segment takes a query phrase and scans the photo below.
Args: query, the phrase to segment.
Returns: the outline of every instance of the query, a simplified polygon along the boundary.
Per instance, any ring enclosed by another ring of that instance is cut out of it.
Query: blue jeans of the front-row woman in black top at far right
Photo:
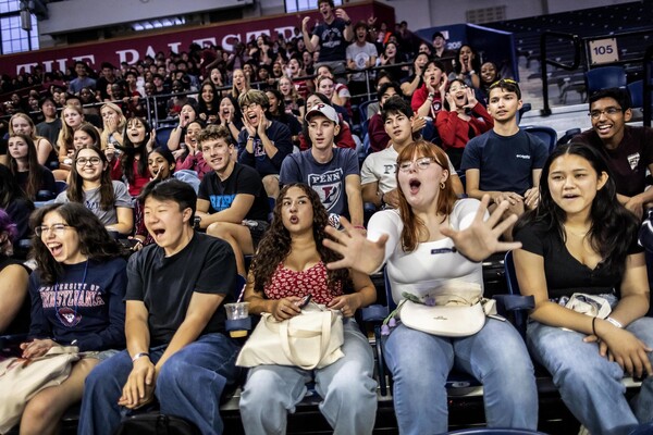
[[[641,318],[626,327],[653,347],[653,319]],[[624,370],[599,355],[584,334],[531,321],[527,343],[533,357],[549,370],[567,408],[592,433],[627,434],[639,423],[653,421],[653,376],[642,383],[631,409],[624,397]],[[653,361],[649,353],[649,360]]]

